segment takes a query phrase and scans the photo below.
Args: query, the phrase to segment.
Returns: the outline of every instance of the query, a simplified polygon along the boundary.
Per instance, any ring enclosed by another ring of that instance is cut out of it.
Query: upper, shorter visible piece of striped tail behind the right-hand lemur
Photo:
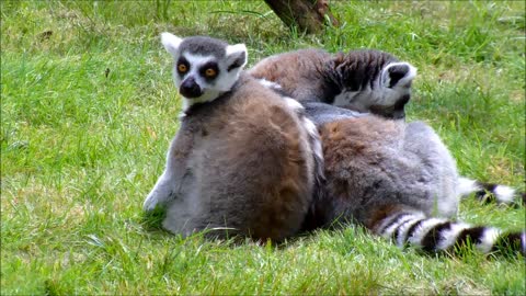
[[[460,178],[458,182],[458,193],[461,196],[474,196],[484,203],[499,203],[511,205],[526,204],[526,193],[493,183],[483,183],[468,178]]]

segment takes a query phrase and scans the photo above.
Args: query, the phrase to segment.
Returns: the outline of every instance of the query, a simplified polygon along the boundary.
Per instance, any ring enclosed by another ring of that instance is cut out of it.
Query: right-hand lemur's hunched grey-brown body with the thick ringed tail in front
[[[469,240],[482,252],[511,249],[526,254],[525,231],[447,219],[457,214],[465,181],[430,126],[355,116],[324,103],[305,106],[320,132],[325,177],[307,227],[356,221],[400,247],[454,251]]]

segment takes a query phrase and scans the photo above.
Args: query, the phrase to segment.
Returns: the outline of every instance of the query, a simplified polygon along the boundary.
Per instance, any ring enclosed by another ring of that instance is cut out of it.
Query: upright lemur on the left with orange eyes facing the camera
[[[318,133],[301,105],[242,72],[243,44],[170,33],[161,41],[184,115],[144,209],[165,207],[163,227],[183,236],[297,234],[322,174]]]

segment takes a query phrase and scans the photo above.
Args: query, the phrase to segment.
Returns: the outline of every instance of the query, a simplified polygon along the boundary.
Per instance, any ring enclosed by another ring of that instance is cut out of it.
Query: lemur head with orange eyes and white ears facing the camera
[[[162,33],[161,42],[175,61],[173,81],[185,99],[184,110],[228,92],[247,64],[244,44],[228,45],[205,36],[180,38],[170,33]]]

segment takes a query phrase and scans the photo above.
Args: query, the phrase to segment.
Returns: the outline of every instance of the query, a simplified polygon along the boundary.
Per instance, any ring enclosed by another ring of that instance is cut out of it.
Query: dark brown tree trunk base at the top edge
[[[308,34],[318,33],[323,29],[325,15],[332,25],[339,25],[330,12],[329,0],[265,0],[265,2],[287,26],[297,26],[299,31]]]

